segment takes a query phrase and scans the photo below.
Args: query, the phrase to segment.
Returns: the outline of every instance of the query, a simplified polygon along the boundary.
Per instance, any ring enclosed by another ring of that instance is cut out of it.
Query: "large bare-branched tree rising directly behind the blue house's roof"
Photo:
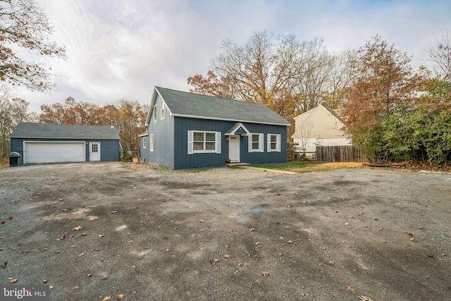
[[[318,38],[302,42],[295,35],[255,32],[244,46],[225,40],[222,49],[205,77],[187,79],[191,92],[260,102],[290,119],[326,99],[333,103],[347,82],[331,80],[345,63],[338,68],[340,61]]]

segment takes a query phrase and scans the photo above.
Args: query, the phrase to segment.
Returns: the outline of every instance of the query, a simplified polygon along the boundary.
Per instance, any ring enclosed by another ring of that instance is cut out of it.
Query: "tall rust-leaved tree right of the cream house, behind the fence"
[[[356,79],[343,115],[352,141],[368,155],[385,147],[384,118],[405,113],[417,97],[419,76],[413,73],[410,61],[379,35],[358,51]]]

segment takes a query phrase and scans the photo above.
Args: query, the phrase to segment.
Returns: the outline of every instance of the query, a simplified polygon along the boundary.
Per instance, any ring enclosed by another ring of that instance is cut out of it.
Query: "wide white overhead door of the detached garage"
[[[24,164],[84,161],[85,142],[25,142]]]

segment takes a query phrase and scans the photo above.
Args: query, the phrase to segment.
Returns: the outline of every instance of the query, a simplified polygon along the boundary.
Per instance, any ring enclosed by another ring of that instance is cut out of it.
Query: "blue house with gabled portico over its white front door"
[[[264,104],[155,87],[141,160],[172,169],[284,163],[288,125]]]

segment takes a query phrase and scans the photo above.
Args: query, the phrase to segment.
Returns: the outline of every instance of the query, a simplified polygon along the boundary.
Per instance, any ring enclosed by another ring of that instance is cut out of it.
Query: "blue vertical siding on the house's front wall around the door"
[[[228,159],[228,140],[226,133],[235,121],[216,121],[209,119],[175,117],[173,128],[174,137],[174,164],[173,169],[199,168],[209,166],[223,166]],[[264,133],[264,152],[248,152],[247,136],[240,136],[240,161],[251,164],[283,163],[286,162],[287,128],[285,125],[265,125],[259,123],[243,123],[250,133]],[[214,131],[221,132],[221,154],[194,153],[187,154],[187,131]],[[150,133],[150,132],[149,132]],[[280,135],[280,152],[267,152],[266,135]],[[164,164],[163,164],[164,165]]]

